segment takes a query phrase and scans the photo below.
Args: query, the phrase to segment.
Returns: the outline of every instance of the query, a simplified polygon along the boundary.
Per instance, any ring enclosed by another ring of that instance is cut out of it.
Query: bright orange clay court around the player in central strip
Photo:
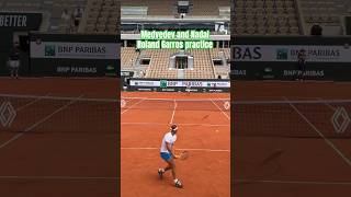
[[[122,93],[121,186],[123,197],[228,197],[230,196],[230,115],[208,99],[229,94]],[[176,99],[174,103],[131,97]],[[190,103],[181,100],[207,100]],[[202,106],[202,108],[200,108]],[[182,189],[173,186],[170,172],[159,179],[166,163],[159,157],[163,135],[171,123],[179,125],[176,150],[190,152],[176,161]]]

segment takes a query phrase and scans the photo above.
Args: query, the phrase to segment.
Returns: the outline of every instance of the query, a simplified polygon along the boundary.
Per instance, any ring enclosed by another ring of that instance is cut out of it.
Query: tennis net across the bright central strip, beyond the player
[[[122,113],[140,111],[211,111],[230,113],[230,99],[144,99],[122,97]]]

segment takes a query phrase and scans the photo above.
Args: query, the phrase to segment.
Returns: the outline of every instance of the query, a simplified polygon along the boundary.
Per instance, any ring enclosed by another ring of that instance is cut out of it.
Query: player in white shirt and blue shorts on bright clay
[[[160,155],[162,160],[167,162],[168,165],[165,169],[159,169],[158,175],[160,178],[162,178],[166,171],[172,170],[174,186],[178,188],[182,188],[183,186],[182,183],[177,178],[176,162],[174,162],[174,159],[179,158],[179,155],[174,153],[174,149],[173,149],[173,144],[177,140],[177,131],[178,131],[178,126],[172,125],[170,131],[167,132],[162,139]]]

